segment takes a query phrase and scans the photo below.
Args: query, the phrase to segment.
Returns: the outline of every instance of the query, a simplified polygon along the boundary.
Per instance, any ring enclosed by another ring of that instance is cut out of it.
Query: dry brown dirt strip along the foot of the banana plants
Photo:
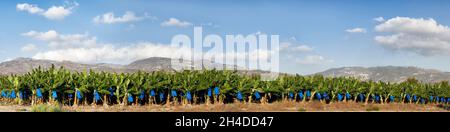
[[[26,112],[32,106],[0,105],[0,112]],[[69,112],[450,112],[436,104],[367,104],[362,103],[331,103],[320,102],[275,102],[270,104],[202,104],[202,105],[145,105],[145,106],[63,106]]]

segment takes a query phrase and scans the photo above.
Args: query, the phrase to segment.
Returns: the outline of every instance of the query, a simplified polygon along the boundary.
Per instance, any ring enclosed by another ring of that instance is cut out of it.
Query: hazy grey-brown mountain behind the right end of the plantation
[[[450,72],[417,67],[381,66],[381,67],[342,67],[333,68],[316,74],[327,77],[355,77],[361,80],[402,82],[414,77],[422,82],[450,81]]]

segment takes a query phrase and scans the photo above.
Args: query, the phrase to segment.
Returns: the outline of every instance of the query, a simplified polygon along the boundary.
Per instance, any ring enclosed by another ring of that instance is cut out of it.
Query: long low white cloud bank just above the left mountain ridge
[[[249,61],[258,59],[267,59],[270,51],[255,50],[248,53]],[[177,53],[177,54],[174,54]],[[172,47],[169,44],[141,42],[130,44],[128,46],[117,47],[113,44],[97,44],[95,47],[77,47],[55,49],[44,52],[39,52],[33,56],[34,59],[47,59],[56,61],[73,61],[82,63],[118,63],[128,64],[132,61],[145,59],[149,57],[165,57],[175,58],[176,55],[190,55],[190,49],[183,49]],[[236,53],[236,56],[223,53],[208,53],[207,55],[215,55],[217,58],[226,57],[231,60],[231,57],[236,57],[238,61],[245,60],[245,53]],[[195,59],[201,58],[200,53],[195,53]]]

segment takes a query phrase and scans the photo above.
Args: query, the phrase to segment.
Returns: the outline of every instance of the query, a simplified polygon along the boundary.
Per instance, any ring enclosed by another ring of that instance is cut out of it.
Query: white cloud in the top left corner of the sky
[[[67,3],[65,6],[52,6],[47,10],[39,8],[37,5],[28,3],[21,3],[16,5],[18,11],[27,11],[30,14],[37,14],[46,17],[50,20],[63,20],[65,17],[72,14],[72,10],[77,7],[78,3]]]

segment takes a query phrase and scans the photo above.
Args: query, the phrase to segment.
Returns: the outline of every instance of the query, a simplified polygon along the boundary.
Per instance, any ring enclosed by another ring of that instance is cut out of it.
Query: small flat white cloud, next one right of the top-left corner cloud
[[[97,24],[115,24],[115,23],[127,23],[141,21],[147,18],[156,19],[155,17],[150,17],[148,14],[144,16],[136,16],[132,11],[127,11],[122,16],[116,17],[113,12],[108,12],[103,15],[94,17],[93,21]]]

